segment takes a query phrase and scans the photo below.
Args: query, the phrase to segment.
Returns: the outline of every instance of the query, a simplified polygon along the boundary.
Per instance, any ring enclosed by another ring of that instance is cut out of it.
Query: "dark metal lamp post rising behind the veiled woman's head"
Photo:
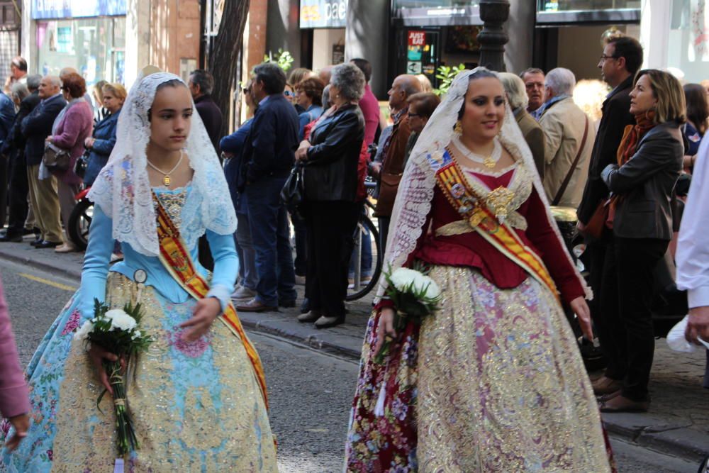
[[[509,16],[508,0],[480,0],[480,18],[483,21],[483,29],[478,35],[481,66],[498,72],[506,70],[505,45],[510,38],[503,29],[503,23]]]

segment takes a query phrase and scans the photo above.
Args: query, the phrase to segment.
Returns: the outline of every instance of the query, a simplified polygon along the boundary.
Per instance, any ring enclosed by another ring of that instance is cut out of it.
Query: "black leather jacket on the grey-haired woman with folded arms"
[[[342,106],[318,123],[303,169],[306,201],[354,202],[363,139],[364,117],[357,105]]]

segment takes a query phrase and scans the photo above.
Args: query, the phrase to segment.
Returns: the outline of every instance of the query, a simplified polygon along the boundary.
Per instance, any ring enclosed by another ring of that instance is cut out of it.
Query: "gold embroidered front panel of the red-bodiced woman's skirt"
[[[574,334],[548,289],[434,267],[418,345],[420,472],[609,472]]]

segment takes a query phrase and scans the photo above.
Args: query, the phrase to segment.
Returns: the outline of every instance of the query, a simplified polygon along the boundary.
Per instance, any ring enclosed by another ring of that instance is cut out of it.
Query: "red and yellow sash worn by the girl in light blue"
[[[203,299],[208,291],[209,284],[201,277],[199,272],[194,269],[194,263],[187,251],[184,240],[179,234],[179,230],[172,219],[165,211],[157,196],[153,194],[153,200],[156,203],[155,213],[157,214],[157,238],[160,240],[160,261],[167,269],[167,272],[177,281],[187,293],[194,299]],[[234,305],[229,302],[224,313],[219,317],[233,333],[237,335],[246,349],[246,354],[249,357],[251,365],[254,368],[254,374],[261,387],[261,394],[264,398],[266,408],[268,408],[268,394],[266,391],[266,377],[264,369],[261,365],[261,359],[256,352],[256,348],[251,344],[251,341],[246,336],[244,329],[241,326],[241,321],[236,313]]]

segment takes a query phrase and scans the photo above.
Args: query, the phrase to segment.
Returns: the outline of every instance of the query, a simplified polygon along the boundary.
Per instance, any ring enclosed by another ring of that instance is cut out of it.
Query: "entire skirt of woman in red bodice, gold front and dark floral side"
[[[347,472],[610,472],[574,334],[535,279],[498,289],[474,269],[435,266],[443,299],[409,324],[386,365],[362,351]]]

